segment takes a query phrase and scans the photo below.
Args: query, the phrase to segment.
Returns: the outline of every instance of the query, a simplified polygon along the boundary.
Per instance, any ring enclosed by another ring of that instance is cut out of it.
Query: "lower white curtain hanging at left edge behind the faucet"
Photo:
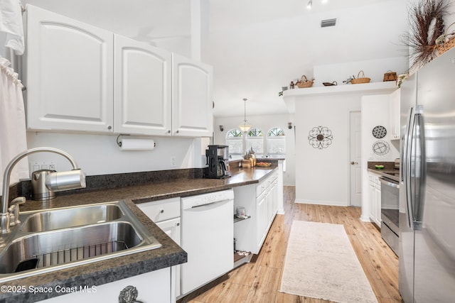
[[[18,80],[17,73],[9,65],[9,60],[0,57],[0,184],[2,184],[0,195],[3,194],[6,165],[18,153],[27,149],[23,85]],[[11,173],[10,184],[28,177],[28,163],[24,158],[18,162]]]

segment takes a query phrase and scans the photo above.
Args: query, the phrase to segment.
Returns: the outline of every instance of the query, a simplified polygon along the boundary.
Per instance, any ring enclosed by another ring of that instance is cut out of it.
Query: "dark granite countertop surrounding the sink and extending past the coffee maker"
[[[112,202],[119,199],[129,206],[139,221],[151,232],[161,248],[154,250],[132,253],[122,257],[109,260],[100,260],[87,265],[80,265],[74,268],[58,270],[55,272],[43,273],[32,277],[11,280],[1,285],[23,285],[27,288],[34,287],[79,287],[87,285],[102,285],[126,277],[140,275],[145,272],[168,268],[173,265],[186,263],[187,254],[166,233],[154,224],[136,204],[153,202],[171,197],[188,197],[195,194],[216,192],[232,187],[255,184],[264,180],[270,172],[277,168],[273,163],[271,167],[254,168],[232,168],[232,176],[226,179],[202,179],[202,178],[181,178],[166,182],[150,182],[148,184],[133,185],[128,187],[117,187],[105,190],[94,190],[78,194],[57,195],[55,199],[48,202],[37,202],[27,200],[21,206],[21,211],[35,209],[49,209],[63,206],[77,206],[102,202]],[[58,293],[3,293],[0,292],[1,302],[36,302],[42,299],[57,296]]]

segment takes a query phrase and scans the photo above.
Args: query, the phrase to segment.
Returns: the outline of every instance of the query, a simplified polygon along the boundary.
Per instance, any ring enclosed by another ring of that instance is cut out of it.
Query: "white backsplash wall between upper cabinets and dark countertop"
[[[50,146],[73,155],[86,175],[108,175],[122,172],[175,170],[198,167],[200,139],[154,137],[156,148],[148,151],[122,151],[117,136],[78,133],[27,133],[28,148]],[[176,166],[171,165],[176,158]],[[31,165],[53,162],[56,170],[70,169],[65,158],[53,153],[36,153],[28,157]],[[32,166],[33,168],[33,166]]]

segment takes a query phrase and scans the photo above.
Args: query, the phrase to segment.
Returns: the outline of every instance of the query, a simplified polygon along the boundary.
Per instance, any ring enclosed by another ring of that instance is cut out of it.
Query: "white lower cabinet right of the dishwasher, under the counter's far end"
[[[245,214],[250,219],[238,221],[234,224],[236,249],[259,253],[262,244],[269,232],[278,209],[279,188],[278,174],[275,170],[272,175],[259,184],[250,184],[234,188],[234,208],[245,207]]]

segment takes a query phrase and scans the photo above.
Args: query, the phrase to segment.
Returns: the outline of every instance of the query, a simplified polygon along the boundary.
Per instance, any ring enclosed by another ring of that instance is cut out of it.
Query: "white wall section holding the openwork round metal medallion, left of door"
[[[350,111],[360,111],[360,94],[296,98],[296,202],[349,205]],[[332,131],[328,148],[309,145],[317,126]]]

